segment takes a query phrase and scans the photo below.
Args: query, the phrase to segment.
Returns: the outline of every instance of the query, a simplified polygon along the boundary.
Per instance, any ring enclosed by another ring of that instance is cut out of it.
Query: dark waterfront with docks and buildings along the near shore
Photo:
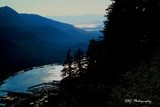
[[[58,96],[59,92],[59,84],[60,81],[53,80],[52,82],[37,84],[36,86],[44,85],[45,91],[42,87],[38,87],[38,91],[34,92],[34,90],[30,91],[31,93],[27,92],[14,92],[14,91],[7,91],[7,95],[0,96],[0,101],[4,106],[16,106],[17,104],[23,105],[35,105],[35,104],[46,104],[49,100],[50,96]],[[50,85],[52,87],[48,88]],[[36,87],[32,86],[32,87]],[[28,87],[29,88],[29,87]],[[37,103],[35,103],[37,102]]]

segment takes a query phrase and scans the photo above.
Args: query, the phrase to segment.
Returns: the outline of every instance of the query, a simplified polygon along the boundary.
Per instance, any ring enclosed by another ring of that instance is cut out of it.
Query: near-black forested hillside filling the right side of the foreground
[[[104,39],[90,41],[87,68],[73,69],[72,63],[83,58],[73,60],[68,54],[72,60],[67,59],[63,71],[67,76],[61,81],[60,107],[159,106],[160,2],[112,2]]]

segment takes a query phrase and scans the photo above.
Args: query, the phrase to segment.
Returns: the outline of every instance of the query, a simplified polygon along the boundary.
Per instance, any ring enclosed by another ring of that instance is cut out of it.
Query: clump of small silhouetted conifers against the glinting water
[[[69,78],[80,76],[87,69],[87,62],[87,58],[80,48],[78,48],[73,55],[71,53],[71,50],[69,50],[64,61],[62,76]]]

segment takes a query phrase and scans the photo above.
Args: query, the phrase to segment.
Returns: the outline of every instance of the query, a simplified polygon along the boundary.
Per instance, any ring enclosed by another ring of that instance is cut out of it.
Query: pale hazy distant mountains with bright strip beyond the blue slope
[[[61,22],[71,23],[77,28],[83,29],[85,31],[99,31],[104,27],[103,14],[85,14],[78,16],[46,16],[53,20],[58,20]]]

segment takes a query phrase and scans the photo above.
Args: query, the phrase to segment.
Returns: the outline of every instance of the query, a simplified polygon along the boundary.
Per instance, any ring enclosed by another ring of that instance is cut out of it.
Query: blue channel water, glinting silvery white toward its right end
[[[0,86],[0,90],[25,92],[28,87],[36,84],[61,80],[62,65],[45,65],[36,67],[28,71],[20,71],[16,75],[9,77]],[[5,93],[0,92],[0,96]]]

